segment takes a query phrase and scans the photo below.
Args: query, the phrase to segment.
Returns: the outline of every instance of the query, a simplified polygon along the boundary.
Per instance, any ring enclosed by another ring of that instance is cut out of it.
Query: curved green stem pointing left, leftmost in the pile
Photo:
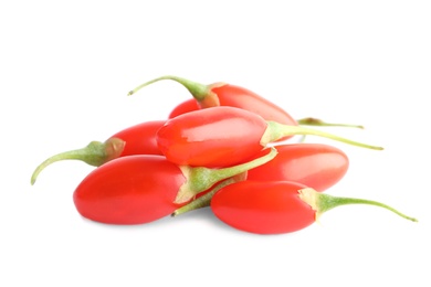
[[[61,160],[81,160],[94,167],[117,158],[122,155],[125,141],[119,138],[111,138],[105,142],[92,141],[85,148],[64,151],[48,158],[36,167],[31,176],[31,184],[38,179],[39,173],[48,166]]]

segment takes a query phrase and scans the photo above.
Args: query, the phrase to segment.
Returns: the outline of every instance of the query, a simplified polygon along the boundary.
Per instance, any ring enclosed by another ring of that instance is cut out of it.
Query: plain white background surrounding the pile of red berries
[[[1,286],[430,286],[431,9],[429,1],[3,1]],[[233,230],[210,210],[146,225],[82,219],[72,194],[93,170],[60,151],[164,119],[189,94],[174,74],[228,82],[295,118],[383,146],[341,148],[327,192],[378,200],[343,206],[284,235]]]

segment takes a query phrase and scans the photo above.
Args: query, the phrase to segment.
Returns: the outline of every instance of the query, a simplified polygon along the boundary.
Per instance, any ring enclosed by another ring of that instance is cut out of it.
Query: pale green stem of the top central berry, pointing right
[[[376,146],[370,146],[367,144],[354,141],[350,139],[341,138],[328,132],[324,132],[320,130],[316,129],[311,129],[311,128],[305,128],[305,127],[299,127],[299,126],[288,126],[288,125],[283,125],[278,124],[275,121],[266,121],[267,123],[267,128],[264,132],[264,135],[261,138],[261,145],[263,147],[266,147],[267,144],[274,142],[281,138],[284,138],[286,136],[295,136],[295,135],[312,135],[312,136],[318,136],[323,138],[328,138],[333,139],[336,141],[340,141],[344,144],[361,147],[361,148],[368,148],[368,149],[376,149],[376,150],[382,150],[382,147],[376,147]]]

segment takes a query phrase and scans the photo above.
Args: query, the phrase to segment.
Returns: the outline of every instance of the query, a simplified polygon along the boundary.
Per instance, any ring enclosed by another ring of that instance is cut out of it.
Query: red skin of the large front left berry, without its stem
[[[109,224],[141,224],[171,214],[181,170],[162,156],[117,158],[93,170],[73,194],[80,214]]]

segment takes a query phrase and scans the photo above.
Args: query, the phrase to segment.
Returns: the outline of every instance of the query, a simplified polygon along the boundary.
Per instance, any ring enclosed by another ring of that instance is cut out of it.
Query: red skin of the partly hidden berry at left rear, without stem
[[[126,145],[120,157],[132,155],[162,155],[157,147],[157,130],[166,120],[145,121],[113,135],[111,138],[123,139]]]

